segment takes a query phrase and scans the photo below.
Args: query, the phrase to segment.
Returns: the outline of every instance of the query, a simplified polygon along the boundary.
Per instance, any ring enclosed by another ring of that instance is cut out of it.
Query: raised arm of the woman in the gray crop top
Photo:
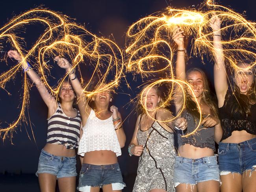
[[[176,60],[176,77],[179,80],[186,81],[186,68],[185,68],[185,49],[184,49],[184,35],[180,28],[177,28],[173,33],[173,41],[178,45],[178,53]],[[176,85],[174,104],[176,113],[183,105],[183,92],[179,85]]]

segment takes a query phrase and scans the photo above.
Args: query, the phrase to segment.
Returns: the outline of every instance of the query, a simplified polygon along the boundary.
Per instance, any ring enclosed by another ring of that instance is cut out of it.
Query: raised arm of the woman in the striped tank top
[[[13,58],[19,62],[22,62],[22,68],[28,74],[30,79],[35,83],[35,85],[39,91],[39,94],[41,95],[43,101],[45,102],[45,104],[48,107],[48,116],[52,116],[52,114],[55,113],[55,111],[58,107],[58,104],[57,104],[56,100],[54,99],[54,97],[51,96],[51,94],[46,89],[46,87],[45,87],[44,83],[41,81],[41,78],[39,77],[39,75],[29,66],[29,64],[26,61],[22,61],[22,57],[17,52],[17,50],[9,50],[7,55],[10,58]]]

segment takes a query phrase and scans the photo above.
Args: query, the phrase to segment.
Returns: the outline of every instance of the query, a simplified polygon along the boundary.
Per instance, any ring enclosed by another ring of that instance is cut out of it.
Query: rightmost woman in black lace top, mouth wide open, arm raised
[[[230,63],[234,70],[232,85],[226,76],[221,20],[215,17],[211,24],[214,35],[214,85],[218,98],[219,117],[223,137],[219,143],[219,170],[221,192],[251,192],[256,190],[256,93],[255,58],[239,59]],[[238,57],[241,55],[237,53]],[[237,69],[236,66],[240,69]]]

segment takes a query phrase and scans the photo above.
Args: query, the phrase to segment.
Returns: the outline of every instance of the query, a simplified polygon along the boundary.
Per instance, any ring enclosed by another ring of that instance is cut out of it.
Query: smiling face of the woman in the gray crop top
[[[191,71],[187,74],[187,83],[191,85],[196,98],[201,97],[204,90],[204,80],[203,76],[199,71]],[[193,94],[190,89],[188,89],[188,94],[193,98]]]

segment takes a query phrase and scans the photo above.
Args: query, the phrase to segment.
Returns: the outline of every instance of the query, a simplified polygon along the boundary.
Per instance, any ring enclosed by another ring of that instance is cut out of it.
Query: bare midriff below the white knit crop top
[[[94,165],[107,165],[117,163],[117,155],[113,151],[89,151],[84,154],[83,163]]]

